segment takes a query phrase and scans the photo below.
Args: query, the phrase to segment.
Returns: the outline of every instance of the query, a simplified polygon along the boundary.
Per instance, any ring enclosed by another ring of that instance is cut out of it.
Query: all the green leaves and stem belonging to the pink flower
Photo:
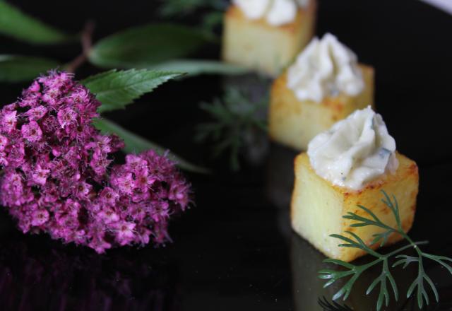
[[[113,69],[81,81],[102,102],[99,112],[122,109],[160,84],[183,75],[182,72],[168,71],[168,67],[183,69],[191,75],[245,72],[242,68],[218,61],[179,59],[196,52],[207,43],[218,42],[212,33],[196,28],[176,24],[144,25],[105,37],[92,47],[93,28],[88,25],[90,24],[87,23],[80,36],[83,53],[73,59],[66,69],[73,72],[87,60],[97,66]],[[25,15],[3,0],[0,0],[0,34],[35,44],[59,43],[75,38]],[[165,64],[160,64],[162,62]],[[57,66],[57,61],[52,59],[0,55],[0,82],[28,81]],[[117,71],[114,69],[117,67],[130,70]],[[166,70],[155,71],[147,69],[149,67],[166,67]],[[100,119],[96,124],[103,131],[112,131],[121,136],[126,141],[126,151],[140,152],[152,148],[159,153],[165,152],[164,148],[113,122]],[[207,172],[206,169],[199,168],[177,155],[169,153],[169,156],[185,170]]]

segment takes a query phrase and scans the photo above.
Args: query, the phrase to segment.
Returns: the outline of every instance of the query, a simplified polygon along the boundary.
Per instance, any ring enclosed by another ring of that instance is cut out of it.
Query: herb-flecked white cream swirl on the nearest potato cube
[[[355,111],[315,136],[308,156],[317,175],[352,190],[398,168],[396,141],[371,107]]]

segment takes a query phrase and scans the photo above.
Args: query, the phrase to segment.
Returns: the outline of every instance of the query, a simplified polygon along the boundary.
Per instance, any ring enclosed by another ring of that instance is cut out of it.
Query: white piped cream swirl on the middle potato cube
[[[331,33],[315,37],[287,73],[287,87],[299,100],[321,102],[339,93],[358,95],[364,89],[357,56]]]

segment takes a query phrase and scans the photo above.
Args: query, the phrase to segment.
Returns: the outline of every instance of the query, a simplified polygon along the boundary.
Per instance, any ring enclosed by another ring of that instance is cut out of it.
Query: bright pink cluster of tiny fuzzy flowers
[[[92,124],[98,102],[65,72],[50,72],[0,112],[0,202],[23,233],[87,245],[169,240],[169,217],[189,185],[166,155],[147,151],[112,165],[124,143]]]

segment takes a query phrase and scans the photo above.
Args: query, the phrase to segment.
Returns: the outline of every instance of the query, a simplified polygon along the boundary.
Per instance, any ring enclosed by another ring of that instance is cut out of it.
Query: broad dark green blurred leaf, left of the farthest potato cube
[[[88,58],[100,67],[146,68],[184,57],[215,41],[214,35],[196,28],[150,24],[105,37],[91,49]]]

